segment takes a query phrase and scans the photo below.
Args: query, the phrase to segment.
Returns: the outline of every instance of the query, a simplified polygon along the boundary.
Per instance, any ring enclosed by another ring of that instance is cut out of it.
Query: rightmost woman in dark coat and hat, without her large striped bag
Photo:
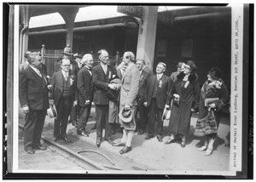
[[[213,110],[217,128],[222,115],[221,110],[230,101],[230,94],[220,76],[221,70],[218,67],[213,67],[208,72],[207,81],[201,88],[198,116],[198,119],[202,119],[207,116],[210,110]],[[209,98],[218,98],[218,100],[206,106],[205,100]],[[204,145],[201,146],[201,148],[197,148],[197,150],[206,151],[205,156],[210,156],[212,154],[212,147],[216,136],[216,133],[204,136]]]

